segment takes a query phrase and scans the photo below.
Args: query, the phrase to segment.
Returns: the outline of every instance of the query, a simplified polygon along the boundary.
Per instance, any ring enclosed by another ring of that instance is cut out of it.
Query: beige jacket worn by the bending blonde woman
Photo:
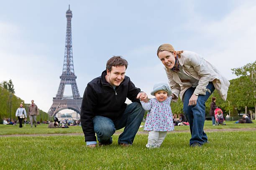
[[[230,85],[230,82],[223,77],[219,70],[217,70],[210,62],[207,62],[195,52],[184,51],[179,57],[179,64],[182,66],[185,74],[199,80],[194,93],[205,95],[206,91],[210,92],[206,86],[209,82],[212,82],[220,97],[223,100],[227,99],[228,86]],[[172,100],[177,101],[180,95],[183,102],[184,92],[188,88],[192,87],[191,82],[189,80],[181,80],[177,73],[173,72],[171,69],[167,69],[166,67],[164,67],[164,69],[166,71],[172,93],[176,96]]]

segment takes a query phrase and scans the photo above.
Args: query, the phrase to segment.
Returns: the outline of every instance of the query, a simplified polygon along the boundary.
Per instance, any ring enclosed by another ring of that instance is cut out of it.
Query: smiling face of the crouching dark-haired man
[[[107,70],[106,80],[110,85],[119,86],[125,76],[125,66],[112,66],[111,71]]]

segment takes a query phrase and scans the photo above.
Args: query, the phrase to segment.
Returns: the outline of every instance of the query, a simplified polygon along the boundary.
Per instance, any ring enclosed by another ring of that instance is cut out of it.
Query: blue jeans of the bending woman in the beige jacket
[[[206,87],[211,92],[215,90],[212,82]],[[205,124],[205,102],[210,97],[211,93],[206,92],[206,95],[199,95],[197,99],[197,105],[191,106],[189,104],[189,99],[195,91],[195,87],[190,87],[186,90],[184,94],[184,103],[183,103],[183,112],[189,121],[189,128],[191,133],[191,139],[189,144],[192,143],[200,143],[204,144],[208,141],[207,135],[204,132],[204,124]]]

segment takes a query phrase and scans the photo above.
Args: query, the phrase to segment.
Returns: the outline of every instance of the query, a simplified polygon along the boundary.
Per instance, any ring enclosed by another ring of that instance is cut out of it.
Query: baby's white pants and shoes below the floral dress
[[[151,130],[148,133],[148,144],[147,148],[159,148],[164,141],[167,131],[160,132],[156,130]]]

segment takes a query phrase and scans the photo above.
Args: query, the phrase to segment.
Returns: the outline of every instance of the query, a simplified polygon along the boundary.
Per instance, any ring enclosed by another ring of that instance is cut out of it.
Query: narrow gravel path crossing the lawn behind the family
[[[241,128],[241,129],[205,129],[205,132],[226,132],[226,131],[255,131],[256,128]],[[190,130],[174,130],[168,133],[184,133],[190,132]],[[119,135],[122,132],[116,132],[114,135]],[[148,132],[137,132],[137,134],[147,134]],[[17,135],[0,135],[0,137],[13,137],[13,136],[63,136],[63,135],[84,135],[84,133],[54,133],[54,134],[17,134]]]

